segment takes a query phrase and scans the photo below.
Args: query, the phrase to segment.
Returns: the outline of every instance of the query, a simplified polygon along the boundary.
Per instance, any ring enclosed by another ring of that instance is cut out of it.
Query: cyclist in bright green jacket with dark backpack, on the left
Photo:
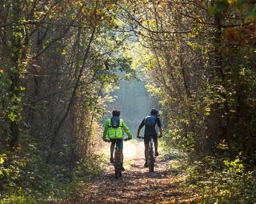
[[[125,131],[126,134],[128,135],[128,139],[132,139],[132,135],[130,133],[129,128],[126,126],[125,122],[119,116],[120,116],[120,112],[117,110],[114,110],[112,112],[112,118],[109,118],[106,120],[102,139],[105,142],[107,141],[106,138],[110,139],[110,142],[111,142],[110,163],[114,163],[114,159],[113,159],[114,145],[115,145],[115,141],[117,141],[121,164],[122,164],[123,163],[122,149],[123,149],[123,138],[124,138],[123,131]],[[125,171],[123,166],[122,166],[122,171]]]

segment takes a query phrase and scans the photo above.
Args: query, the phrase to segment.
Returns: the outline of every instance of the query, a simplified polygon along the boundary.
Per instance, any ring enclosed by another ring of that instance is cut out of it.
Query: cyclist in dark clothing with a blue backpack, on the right
[[[138,127],[137,138],[140,138],[139,134],[144,125],[145,125],[144,146],[145,146],[145,160],[146,160],[144,167],[147,167],[148,165],[147,161],[149,157],[148,147],[149,147],[151,137],[154,140],[155,156],[158,156],[158,133],[155,129],[155,125],[158,125],[159,131],[160,131],[159,138],[162,137],[162,124],[158,116],[158,110],[152,109],[150,112],[150,116],[146,116],[146,118],[142,120],[142,123]]]

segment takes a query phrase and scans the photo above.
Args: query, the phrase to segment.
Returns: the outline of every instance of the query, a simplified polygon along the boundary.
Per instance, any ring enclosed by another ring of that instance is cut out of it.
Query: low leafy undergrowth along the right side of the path
[[[204,156],[193,162],[165,142],[161,143],[161,148],[164,158],[170,160],[170,173],[186,178],[180,188],[199,195],[200,201],[196,203],[256,203],[256,171],[246,170],[242,156],[234,160]]]

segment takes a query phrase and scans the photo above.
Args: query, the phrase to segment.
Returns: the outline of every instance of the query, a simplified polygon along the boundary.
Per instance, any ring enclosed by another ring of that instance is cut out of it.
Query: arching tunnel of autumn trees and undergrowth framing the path
[[[98,174],[111,92],[142,73],[187,184],[204,203],[255,202],[254,0],[1,0],[0,10],[0,203],[57,198]]]

